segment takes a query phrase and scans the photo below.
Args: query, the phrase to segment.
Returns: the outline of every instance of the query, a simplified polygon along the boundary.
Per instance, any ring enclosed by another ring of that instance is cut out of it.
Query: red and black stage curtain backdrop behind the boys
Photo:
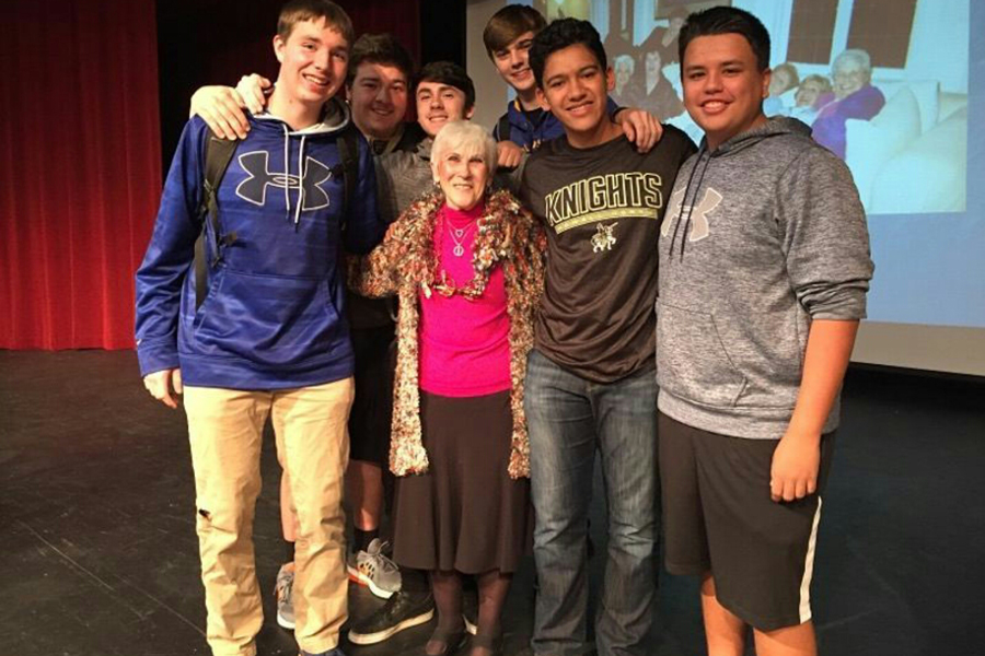
[[[198,85],[276,73],[282,0],[157,4],[0,2],[0,349],[132,348],[162,132],[166,155]],[[339,4],[419,51],[416,0]]]

